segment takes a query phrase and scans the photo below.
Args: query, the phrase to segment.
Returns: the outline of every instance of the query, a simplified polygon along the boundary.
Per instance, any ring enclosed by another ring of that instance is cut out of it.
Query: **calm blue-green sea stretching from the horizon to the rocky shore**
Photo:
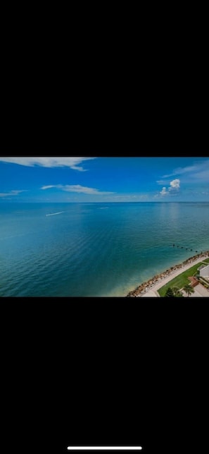
[[[208,227],[209,203],[1,203],[0,296],[125,296],[208,250]]]

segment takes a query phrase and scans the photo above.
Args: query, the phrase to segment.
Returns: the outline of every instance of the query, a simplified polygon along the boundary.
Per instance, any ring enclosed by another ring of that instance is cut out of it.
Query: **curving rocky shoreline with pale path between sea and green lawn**
[[[136,289],[131,290],[127,295],[128,297],[160,297],[157,290],[167,284],[177,275],[191,268],[192,265],[201,262],[205,258],[209,258],[209,251],[201,252],[196,256],[186,258],[182,263],[171,266],[163,273],[159,273],[154,277],[151,277],[146,282],[142,282]]]

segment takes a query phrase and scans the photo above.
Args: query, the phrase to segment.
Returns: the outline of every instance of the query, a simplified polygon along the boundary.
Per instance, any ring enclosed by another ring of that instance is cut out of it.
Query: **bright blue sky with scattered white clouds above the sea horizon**
[[[209,201],[209,158],[0,157],[5,201]]]

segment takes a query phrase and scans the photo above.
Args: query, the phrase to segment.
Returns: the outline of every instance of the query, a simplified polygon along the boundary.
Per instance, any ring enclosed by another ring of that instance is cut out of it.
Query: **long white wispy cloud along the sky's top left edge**
[[[0,157],[0,162],[10,162],[11,164],[24,165],[27,167],[70,167],[73,170],[85,172],[80,164],[87,160],[96,159],[95,157]]]

